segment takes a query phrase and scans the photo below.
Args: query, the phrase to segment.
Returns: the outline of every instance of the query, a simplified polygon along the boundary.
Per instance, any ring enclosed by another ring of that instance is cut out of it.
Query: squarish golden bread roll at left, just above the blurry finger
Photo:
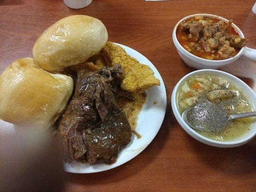
[[[0,75],[0,119],[49,127],[73,92],[73,79],[40,69],[32,58],[14,61]]]

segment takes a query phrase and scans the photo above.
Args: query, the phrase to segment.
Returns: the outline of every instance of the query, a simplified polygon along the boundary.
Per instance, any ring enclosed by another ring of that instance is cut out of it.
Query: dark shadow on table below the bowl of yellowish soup
[[[190,137],[189,135],[187,135]],[[198,161],[227,175],[244,175],[256,171],[256,138],[248,144],[233,148],[219,148],[202,144],[191,137],[191,149]]]

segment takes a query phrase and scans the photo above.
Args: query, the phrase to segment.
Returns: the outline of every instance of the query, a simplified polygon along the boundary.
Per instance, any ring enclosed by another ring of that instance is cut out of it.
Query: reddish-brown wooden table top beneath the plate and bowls
[[[171,111],[175,84],[188,72],[172,43],[174,25],[193,13],[232,18],[256,48],[255,0],[93,0],[80,10],[62,0],[0,1],[0,71],[13,60],[32,57],[37,37],[51,24],[73,14],[100,19],[109,40],[134,48],[160,72],[168,107],[158,135],[133,160],[95,174],[66,173],[65,192],[124,191],[256,191],[256,139],[236,148],[216,148],[197,142],[180,127]],[[240,58],[221,68],[241,77],[256,91],[256,63]]]

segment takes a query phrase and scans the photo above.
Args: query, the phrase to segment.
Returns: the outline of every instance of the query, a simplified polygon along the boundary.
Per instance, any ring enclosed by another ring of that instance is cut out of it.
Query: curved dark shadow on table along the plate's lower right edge
[[[103,172],[91,174],[66,173],[68,182],[82,185],[104,185],[125,180],[126,178],[143,171],[158,156],[158,153],[166,142],[167,135],[170,134],[172,123],[171,112],[168,112],[170,110],[170,105],[168,105],[163,124],[157,136],[152,143],[149,144],[141,154],[134,157],[134,159],[117,168]]]

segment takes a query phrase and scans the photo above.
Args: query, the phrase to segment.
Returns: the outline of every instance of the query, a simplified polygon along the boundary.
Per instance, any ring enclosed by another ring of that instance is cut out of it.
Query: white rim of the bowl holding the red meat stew
[[[195,16],[205,16],[205,17],[214,17],[214,18],[217,18],[221,21],[224,21],[225,23],[228,23],[228,19],[224,18],[224,17],[221,17],[219,15],[214,15],[214,14],[209,14],[209,13],[197,13],[197,14],[192,14],[192,15],[188,15],[188,16],[185,16],[183,17],[175,26],[174,26],[174,29],[173,29],[173,32],[172,32],[172,39],[173,39],[173,42],[174,42],[174,45],[178,45],[181,50],[187,54],[187,56],[193,60],[201,60],[201,61],[205,61],[205,65],[211,65],[211,64],[222,64],[221,62],[228,62],[228,61],[232,61],[232,60],[236,60],[238,59],[244,52],[244,47],[240,49],[240,51],[232,58],[228,58],[228,59],[225,59],[225,60],[207,60],[207,59],[204,59],[204,58],[200,58],[198,56],[195,56],[193,55],[192,53],[188,52],[185,48],[183,48],[183,46],[180,44],[177,36],[176,36],[176,31],[177,31],[177,28],[178,26],[185,20],[191,18],[191,17],[195,17]],[[242,32],[242,30],[237,26],[235,25],[234,23],[232,23],[232,27],[238,32],[239,36],[244,38],[244,34]],[[175,41],[174,41],[175,40]]]

